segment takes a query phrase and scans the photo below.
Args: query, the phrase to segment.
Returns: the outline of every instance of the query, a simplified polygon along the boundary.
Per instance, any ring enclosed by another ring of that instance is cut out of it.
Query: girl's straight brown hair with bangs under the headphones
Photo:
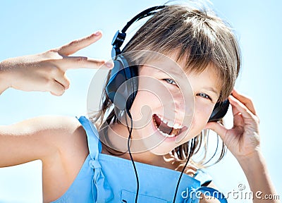
[[[138,50],[156,51],[168,56],[175,51],[178,53],[177,61],[185,60],[183,69],[188,72],[201,73],[212,64],[221,79],[219,101],[225,100],[231,94],[240,70],[240,50],[231,26],[212,11],[186,5],[166,6],[147,20],[126,44],[123,53]],[[142,60],[147,59],[142,56],[130,56],[130,60],[135,64],[144,64]],[[109,75],[106,84],[108,82]],[[118,115],[112,106],[104,92],[101,109],[92,117],[92,122],[96,122],[101,132],[109,123],[118,122]],[[104,119],[105,113],[107,116]],[[106,142],[106,133],[103,134]],[[197,166],[202,166],[207,156],[207,134],[207,130],[204,130],[189,141],[193,145],[192,154],[200,152],[200,149],[204,150],[204,157],[197,161]],[[185,161],[188,157],[189,142],[176,147],[171,153]],[[225,152],[226,147],[222,145],[216,162],[222,159]]]

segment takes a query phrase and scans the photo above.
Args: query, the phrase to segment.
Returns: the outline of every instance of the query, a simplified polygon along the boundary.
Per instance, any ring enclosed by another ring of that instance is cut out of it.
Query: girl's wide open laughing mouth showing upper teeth
[[[153,115],[154,124],[156,125],[157,129],[164,135],[165,137],[176,137],[179,131],[181,130],[182,126],[174,123],[172,121],[166,121],[164,118],[161,118],[157,114]]]

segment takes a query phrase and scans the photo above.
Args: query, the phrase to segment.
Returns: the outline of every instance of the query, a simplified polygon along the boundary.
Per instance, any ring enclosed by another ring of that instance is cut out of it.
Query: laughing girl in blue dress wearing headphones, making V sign
[[[226,202],[191,159],[204,142],[202,131],[212,129],[238,159],[251,190],[274,194],[255,107],[233,90],[240,53],[231,28],[188,6],[160,6],[140,16],[152,18],[121,52],[125,31],[114,38],[114,64],[69,56],[100,39],[99,31],[0,63],[0,92],[13,87],[56,96],[70,84],[66,70],[114,66],[101,109],[90,119],[42,116],[1,125],[0,166],[42,160],[44,202],[211,202],[208,195]],[[231,129],[212,116],[226,99]]]

